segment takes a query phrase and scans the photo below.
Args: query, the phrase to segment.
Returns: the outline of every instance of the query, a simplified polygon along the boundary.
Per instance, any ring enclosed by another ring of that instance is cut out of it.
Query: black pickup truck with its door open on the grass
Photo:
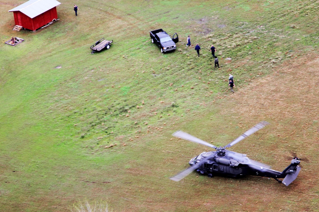
[[[171,38],[164,30],[158,29],[151,31],[150,37],[152,43],[156,43],[159,46],[161,53],[173,51],[176,49],[176,43],[178,42],[177,33],[175,33],[173,35],[173,38]]]

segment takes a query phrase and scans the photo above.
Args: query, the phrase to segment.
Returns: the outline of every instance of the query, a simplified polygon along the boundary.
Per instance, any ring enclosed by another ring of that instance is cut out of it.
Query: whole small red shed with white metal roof
[[[13,12],[16,25],[35,31],[58,18],[56,6],[59,4],[56,0],[30,0],[9,12]]]

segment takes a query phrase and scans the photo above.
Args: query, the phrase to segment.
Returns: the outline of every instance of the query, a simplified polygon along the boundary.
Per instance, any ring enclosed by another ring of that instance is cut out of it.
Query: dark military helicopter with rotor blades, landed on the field
[[[256,124],[256,126],[252,127],[224,147],[211,145],[183,131],[174,132],[174,137],[183,138],[191,142],[206,145],[214,148],[216,151],[203,152],[197,155],[195,158],[192,158],[189,161],[190,167],[188,169],[185,169],[184,171],[170,179],[174,181],[180,181],[192,171],[196,170],[197,173],[207,174],[210,178],[214,175],[228,177],[240,177],[245,175],[269,177],[274,178],[279,183],[282,182],[284,185],[288,186],[291,182],[293,182],[293,180],[297,178],[300,172],[301,168],[300,166],[298,166],[300,163],[299,158],[293,158],[291,164],[284,171],[279,172],[270,169],[270,166],[249,159],[246,154],[226,150],[226,148],[237,144],[239,141],[262,129],[267,124],[269,123],[266,121],[262,121]],[[278,180],[278,178],[284,178],[284,180],[281,181]]]

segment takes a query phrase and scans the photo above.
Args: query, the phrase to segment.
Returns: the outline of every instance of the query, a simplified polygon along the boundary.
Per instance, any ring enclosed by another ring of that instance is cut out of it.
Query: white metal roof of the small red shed
[[[59,4],[61,3],[56,0],[30,0],[9,10],[9,12],[20,11],[30,18],[34,18]]]

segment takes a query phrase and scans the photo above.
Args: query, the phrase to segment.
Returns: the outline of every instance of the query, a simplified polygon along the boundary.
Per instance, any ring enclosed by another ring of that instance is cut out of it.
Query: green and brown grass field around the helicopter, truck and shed
[[[319,211],[318,1],[60,2],[59,21],[36,32],[12,31],[7,11],[24,1],[0,2],[0,211],[64,212],[79,201],[128,212]],[[178,33],[175,52],[151,43],[158,28]],[[4,44],[12,36],[25,41]],[[110,49],[90,54],[103,37]],[[169,180],[207,151],[174,131],[222,146],[262,120],[271,125],[230,150],[278,171],[300,157],[288,187]]]

